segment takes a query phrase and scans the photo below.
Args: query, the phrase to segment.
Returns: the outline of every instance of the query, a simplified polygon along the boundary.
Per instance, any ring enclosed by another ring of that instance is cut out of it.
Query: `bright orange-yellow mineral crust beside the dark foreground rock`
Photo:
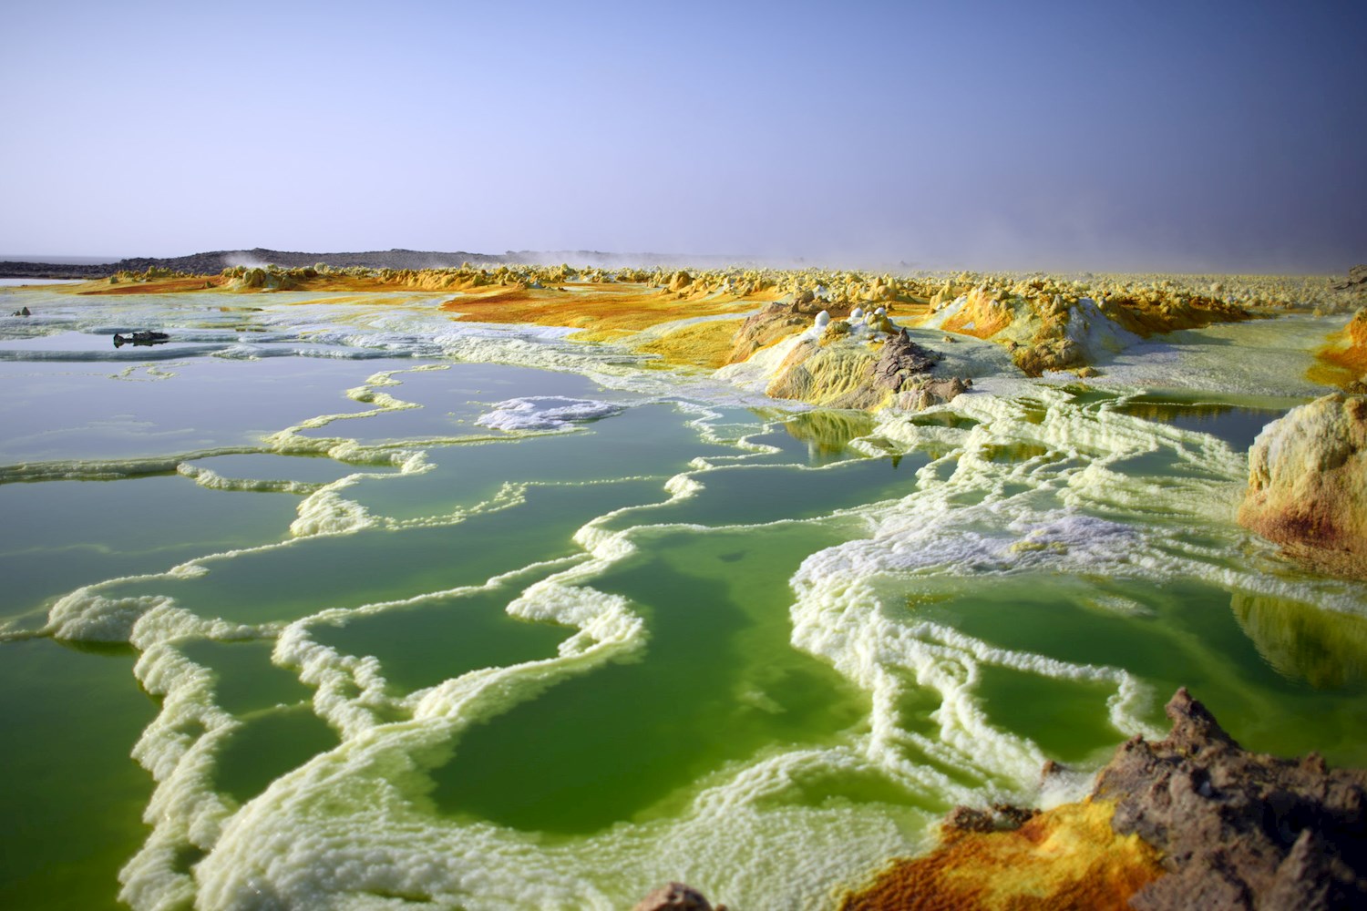
[[[1158,852],[1111,829],[1114,802],[1069,803],[1007,832],[946,829],[924,858],[898,860],[841,911],[1125,908],[1163,874]]]

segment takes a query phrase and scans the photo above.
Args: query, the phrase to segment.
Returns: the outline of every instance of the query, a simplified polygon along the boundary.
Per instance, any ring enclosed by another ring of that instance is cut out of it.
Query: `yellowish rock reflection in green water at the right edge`
[[[1316,690],[1367,683],[1367,620],[1269,594],[1236,593],[1229,605],[1278,673]]]

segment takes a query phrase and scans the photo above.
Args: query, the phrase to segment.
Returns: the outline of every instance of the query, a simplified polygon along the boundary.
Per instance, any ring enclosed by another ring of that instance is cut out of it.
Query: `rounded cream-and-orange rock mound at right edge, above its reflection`
[[[1263,428],[1239,523],[1316,568],[1367,578],[1367,396],[1327,395]]]

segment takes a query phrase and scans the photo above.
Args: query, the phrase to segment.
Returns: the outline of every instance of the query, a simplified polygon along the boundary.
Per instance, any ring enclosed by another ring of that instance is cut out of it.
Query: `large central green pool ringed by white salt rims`
[[[781,621],[783,582],[823,538],[834,539],[808,529],[664,535],[596,578],[640,606],[644,658],[473,728],[433,773],[437,807],[532,832],[592,832],[649,815],[727,761],[858,724],[867,699],[793,651]]]

